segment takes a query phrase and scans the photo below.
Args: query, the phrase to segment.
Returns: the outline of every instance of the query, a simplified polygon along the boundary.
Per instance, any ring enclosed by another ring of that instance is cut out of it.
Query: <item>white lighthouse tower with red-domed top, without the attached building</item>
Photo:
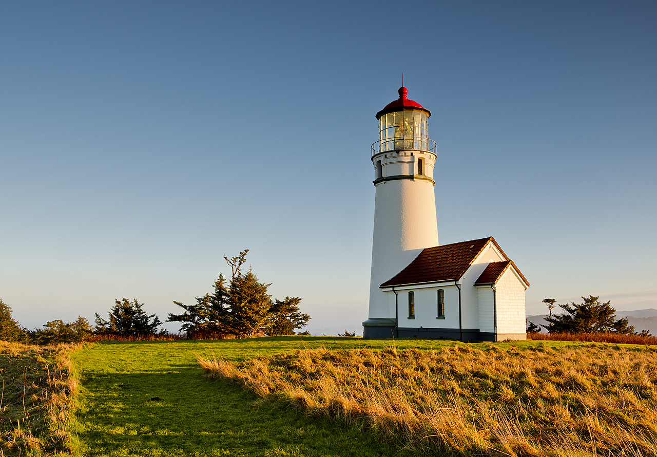
[[[378,141],[374,164],[374,239],[369,318],[364,337],[390,337],[397,325],[397,306],[380,285],[399,273],[422,249],[438,246],[434,166],[436,142],[428,137],[431,112],[406,97],[376,113]]]

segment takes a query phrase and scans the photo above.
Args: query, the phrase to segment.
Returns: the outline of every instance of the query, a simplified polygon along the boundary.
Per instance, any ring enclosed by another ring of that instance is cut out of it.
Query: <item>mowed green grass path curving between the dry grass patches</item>
[[[528,342],[529,343],[529,342]],[[411,456],[357,425],[304,416],[205,377],[196,355],[242,361],[296,349],[432,348],[440,341],[337,337],[98,343],[73,356],[84,456]]]

